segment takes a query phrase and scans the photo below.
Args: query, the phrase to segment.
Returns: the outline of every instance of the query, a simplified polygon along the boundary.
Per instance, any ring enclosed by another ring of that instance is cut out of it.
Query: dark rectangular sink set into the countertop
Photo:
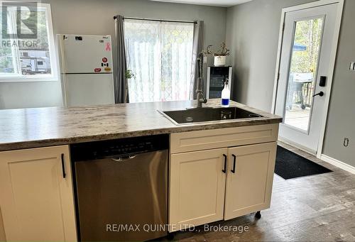
[[[228,108],[194,108],[173,111],[160,111],[175,124],[204,123],[211,121],[233,121],[236,119],[261,118],[263,116],[254,114],[237,107]]]

